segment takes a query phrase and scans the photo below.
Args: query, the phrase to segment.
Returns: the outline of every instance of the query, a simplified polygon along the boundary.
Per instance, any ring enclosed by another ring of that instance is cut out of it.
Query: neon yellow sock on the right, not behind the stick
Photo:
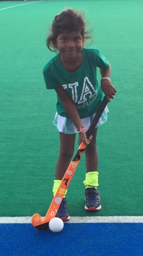
[[[84,185],[87,188],[95,188],[98,186],[98,172],[87,172]]]

